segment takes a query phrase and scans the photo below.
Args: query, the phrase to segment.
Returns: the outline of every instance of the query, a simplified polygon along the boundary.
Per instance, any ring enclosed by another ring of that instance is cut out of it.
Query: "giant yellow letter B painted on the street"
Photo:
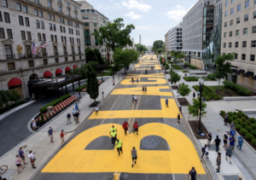
[[[112,125],[112,124],[111,124]],[[119,139],[123,142],[124,154],[113,150],[84,150],[97,137],[108,136],[110,125],[98,125],[81,132],[73,138],[55,157],[49,161],[42,172],[128,172],[128,173],[182,173],[188,174],[192,166],[198,174],[206,174],[193,143],[181,131],[172,126],[150,123],[139,126],[139,135],[128,135],[118,128]],[[144,136],[161,136],[166,139],[171,150],[140,150]],[[106,142],[106,143],[111,143]],[[100,144],[99,144],[100,145]],[[137,148],[137,164],[131,167],[131,148]]]

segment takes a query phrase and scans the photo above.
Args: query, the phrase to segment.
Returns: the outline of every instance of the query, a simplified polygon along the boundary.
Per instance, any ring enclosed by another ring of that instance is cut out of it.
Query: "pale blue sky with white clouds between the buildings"
[[[123,18],[124,24],[133,24],[131,32],[135,44],[153,45],[165,41],[165,34],[177,26],[198,0],[86,0],[109,20]]]

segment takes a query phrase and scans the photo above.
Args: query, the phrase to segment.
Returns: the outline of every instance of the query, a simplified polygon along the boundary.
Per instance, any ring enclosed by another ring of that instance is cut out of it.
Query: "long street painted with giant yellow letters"
[[[180,113],[177,102],[164,74],[160,73],[160,65],[155,64],[156,56],[154,60],[150,60],[151,57],[153,55],[143,56],[136,69],[100,104],[99,113],[85,119],[65,146],[32,179],[105,180],[113,179],[117,172],[119,179],[183,180],[189,179],[192,166],[198,179],[210,179],[182,113],[181,125],[177,125]],[[147,86],[146,92],[143,86]],[[137,102],[132,102],[132,95],[137,96]],[[127,136],[122,127],[125,121],[129,123]],[[135,122],[138,135],[132,133]],[[120,155],[111,144],[112,125],[117,128],[117,138],[123,142]],[[137,149],[137,164],[133,167],[132,147]]]

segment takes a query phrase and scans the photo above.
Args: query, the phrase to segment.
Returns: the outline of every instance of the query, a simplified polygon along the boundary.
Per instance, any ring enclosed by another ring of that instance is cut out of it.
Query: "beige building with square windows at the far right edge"
[[[229,78],[256,92],[256,1],[224,1],[223,12],[221,53],[236,53]]]

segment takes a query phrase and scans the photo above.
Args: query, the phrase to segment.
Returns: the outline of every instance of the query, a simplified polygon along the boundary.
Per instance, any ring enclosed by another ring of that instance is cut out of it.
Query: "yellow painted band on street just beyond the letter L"
[[[148,86],[147,93],[143,92],[142,87],[114,89],[111,95],[172,96],[172,92],[163,92],[160,90],[170,90],[170,88],[167,85],[166,86]]]

